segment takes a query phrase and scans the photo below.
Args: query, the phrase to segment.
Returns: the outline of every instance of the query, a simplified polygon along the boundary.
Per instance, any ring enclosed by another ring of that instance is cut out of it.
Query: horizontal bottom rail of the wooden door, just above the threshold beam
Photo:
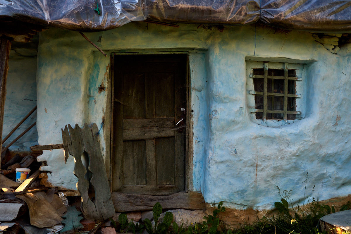
[[[171,195],[180,192],[180,190],[175,185],[123,185],[117,192],[144,195]]]

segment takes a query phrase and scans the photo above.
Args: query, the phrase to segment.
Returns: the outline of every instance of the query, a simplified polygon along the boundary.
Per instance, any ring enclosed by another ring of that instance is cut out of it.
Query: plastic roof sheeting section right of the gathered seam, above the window
[[[261,0],[260,22],[283,29],[350,33],[350,0]]]

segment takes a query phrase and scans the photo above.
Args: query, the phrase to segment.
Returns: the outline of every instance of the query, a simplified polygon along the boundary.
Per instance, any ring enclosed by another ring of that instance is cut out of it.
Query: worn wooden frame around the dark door
[[[185,192],[193,191],[193,128],[192,128],[192,114],[191,114],[191,87],[190,87],[190,64],[189,64],[189,52],[196,52],[196,49],[167,49],[165,51],[160,50],[122,50],[122,51],[114,51],[111,52],[110,56],[110,82],[109,87],[111,87],[108,91],[107,101],[108,106],[110,106],[110,116],[108,118],[108,122],[110,122],[110,144],[106,142],[106,153],[110,154],[110,171],[108,178],[110,182],[110,191],[113,191],[113,166],[114,166],[114,159],[113,159],[113,151],[112,151],[112,142],[113,142],[113,94],[114,94],[114,69],[118,69],[114,67],[114,55],[152,55],[152,54],[187,54],[186,56],[186,102],[187,102],[187,111],[186,111],[186,137],[185,137]],[[203,50],[200,50],[200,53],[203,53]],[[110,99],[110,101],[109,101]],[[108,133],[107,133],[108,134]],[[108,139],[107,139],[108,140]]]

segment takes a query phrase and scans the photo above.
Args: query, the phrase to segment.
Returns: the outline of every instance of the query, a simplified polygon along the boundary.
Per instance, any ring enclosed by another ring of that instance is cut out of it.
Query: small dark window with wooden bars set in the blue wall
[[[282,69],[269,68],[264,62],[263,68],[253,68],[250,78],[253,79],[255,108],[250,112],[256,114],[256,119],[294,120],[298,119],[300,111],[296,110],[296,82],[301,81],[295,69],[289,69],[288,63],[282,63]]]

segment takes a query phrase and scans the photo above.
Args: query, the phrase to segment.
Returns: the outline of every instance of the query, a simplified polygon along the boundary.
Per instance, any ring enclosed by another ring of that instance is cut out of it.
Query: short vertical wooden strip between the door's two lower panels
[[[156,143],[155,140],[146,142],[146,184],[156,185]]]

